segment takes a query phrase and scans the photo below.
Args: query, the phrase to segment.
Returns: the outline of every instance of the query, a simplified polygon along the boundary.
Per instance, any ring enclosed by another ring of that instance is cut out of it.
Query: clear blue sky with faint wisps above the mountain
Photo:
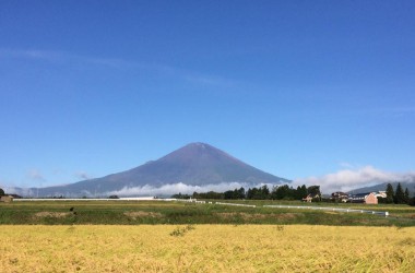
[[[414,14],[414,1],[2,0],[0,185],[102,177],[198,141],[288,179],[412,173]]]

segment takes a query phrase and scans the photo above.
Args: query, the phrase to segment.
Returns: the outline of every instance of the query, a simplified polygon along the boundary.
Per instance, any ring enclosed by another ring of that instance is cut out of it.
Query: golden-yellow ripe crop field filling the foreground
[[[415,272],[415,227],[1,226],[1,272]]]

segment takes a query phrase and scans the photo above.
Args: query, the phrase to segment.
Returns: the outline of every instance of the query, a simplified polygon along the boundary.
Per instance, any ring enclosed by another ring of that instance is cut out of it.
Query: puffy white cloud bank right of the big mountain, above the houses
[[[358,169],[342,169],[322,177],[295,179],[294,185],[320,185],[323,193],[331,193],[333,191],[351,191],[357,188],[394,181],[415,181],[415,173],[389,173],[372,166],[366,166]]]

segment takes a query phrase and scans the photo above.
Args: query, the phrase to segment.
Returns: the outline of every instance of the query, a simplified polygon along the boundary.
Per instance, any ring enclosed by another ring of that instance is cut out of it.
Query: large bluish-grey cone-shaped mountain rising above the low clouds
[[[122,188],[185,183],[206,186],[282,183],[289,180],[257,169],[205,143],[188,144],[157,161],[118,174],[60,187],[33,189],[40,195],[94,195]]]

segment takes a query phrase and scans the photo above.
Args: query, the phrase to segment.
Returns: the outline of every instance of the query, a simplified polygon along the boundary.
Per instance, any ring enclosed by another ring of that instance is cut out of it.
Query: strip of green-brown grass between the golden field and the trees
[[[143,225],[143,224],[274,224],[339,226],[415,226],[415,207],[407,205],[312,204],[389,211],[390,217],[300,209],[262,207],[296,202],[237,201],[257,207],[164,201],[36,201],[0,203],[2,225]],[[309,204],[308,204],[309,205]],[[71,210],[72,209],[72,210]]]

